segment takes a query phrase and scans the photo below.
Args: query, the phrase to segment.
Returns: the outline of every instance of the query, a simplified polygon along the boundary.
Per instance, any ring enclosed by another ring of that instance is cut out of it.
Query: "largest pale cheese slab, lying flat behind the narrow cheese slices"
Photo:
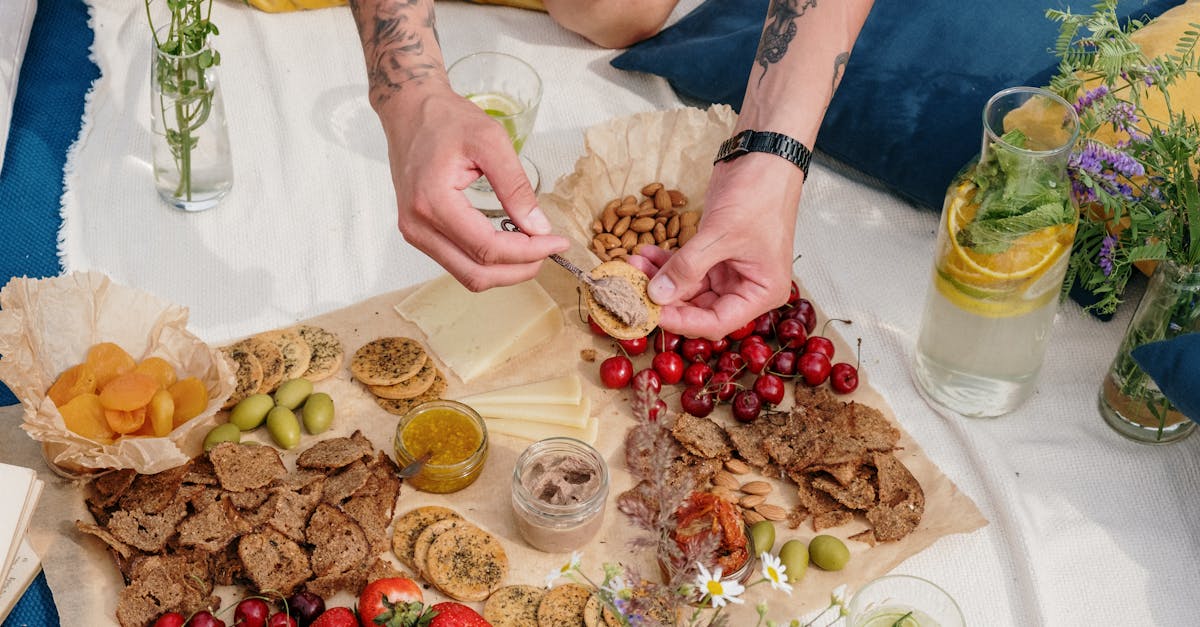
[[[396,311],[421,328],[428,348],[464,382],[563,330],[563,312],[535,281],[474,293],[446,274]]]

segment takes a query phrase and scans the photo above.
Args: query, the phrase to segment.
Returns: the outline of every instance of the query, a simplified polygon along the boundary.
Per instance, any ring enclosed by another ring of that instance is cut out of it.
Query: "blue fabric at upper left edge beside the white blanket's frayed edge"
[[[0,171],[0,282],[61,273],[62,167],[79,135],[84,96],[100,77],[88,59],[91,41],[82,0],[37,4]],[[0,383],[0,406],[14,402]]]

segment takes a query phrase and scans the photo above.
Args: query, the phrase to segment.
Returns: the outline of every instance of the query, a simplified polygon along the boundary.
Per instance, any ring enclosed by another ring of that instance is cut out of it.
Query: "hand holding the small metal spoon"
[[[464,287],[482,291],[538,274],[541,261],[566,250],[504,129],[445,83],[397,95],[379,109],[396,189],[397,226]],[[498,231],[463,190],[486,174],[523,233]]]

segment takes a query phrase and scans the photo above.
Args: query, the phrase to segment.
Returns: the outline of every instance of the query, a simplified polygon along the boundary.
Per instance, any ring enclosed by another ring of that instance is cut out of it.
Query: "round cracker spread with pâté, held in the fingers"
[[[608,293],[617,292],[620,298],[608,299],[605,304],[596,300],[593,289],[583,291],[583,299],[592,320],[600,326],[608,335],[618,340],[635,340],[646,338],[659,326],[659,315],[662,307],[650,300],[650,294],[646,291],[650,279],[642,270],[634,268],[628,262],[613,259],[596,265],[588,273],[592,279],[608,281],[620,281],[624,286],[613,286]],[[624,314],[630,322],[622,321],[618,311]]]

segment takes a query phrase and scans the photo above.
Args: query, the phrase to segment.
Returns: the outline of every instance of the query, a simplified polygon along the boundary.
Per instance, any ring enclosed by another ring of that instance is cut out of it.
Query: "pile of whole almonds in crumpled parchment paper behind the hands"
[[[592,222],[592,251],[601,261],[623,258],[637,246],[654,244],[671,250],[683,246],[700,226],[700,211],[686,211],[688,197],[661,183],[642,187],[641,202],[632,195],[613,198]]]

